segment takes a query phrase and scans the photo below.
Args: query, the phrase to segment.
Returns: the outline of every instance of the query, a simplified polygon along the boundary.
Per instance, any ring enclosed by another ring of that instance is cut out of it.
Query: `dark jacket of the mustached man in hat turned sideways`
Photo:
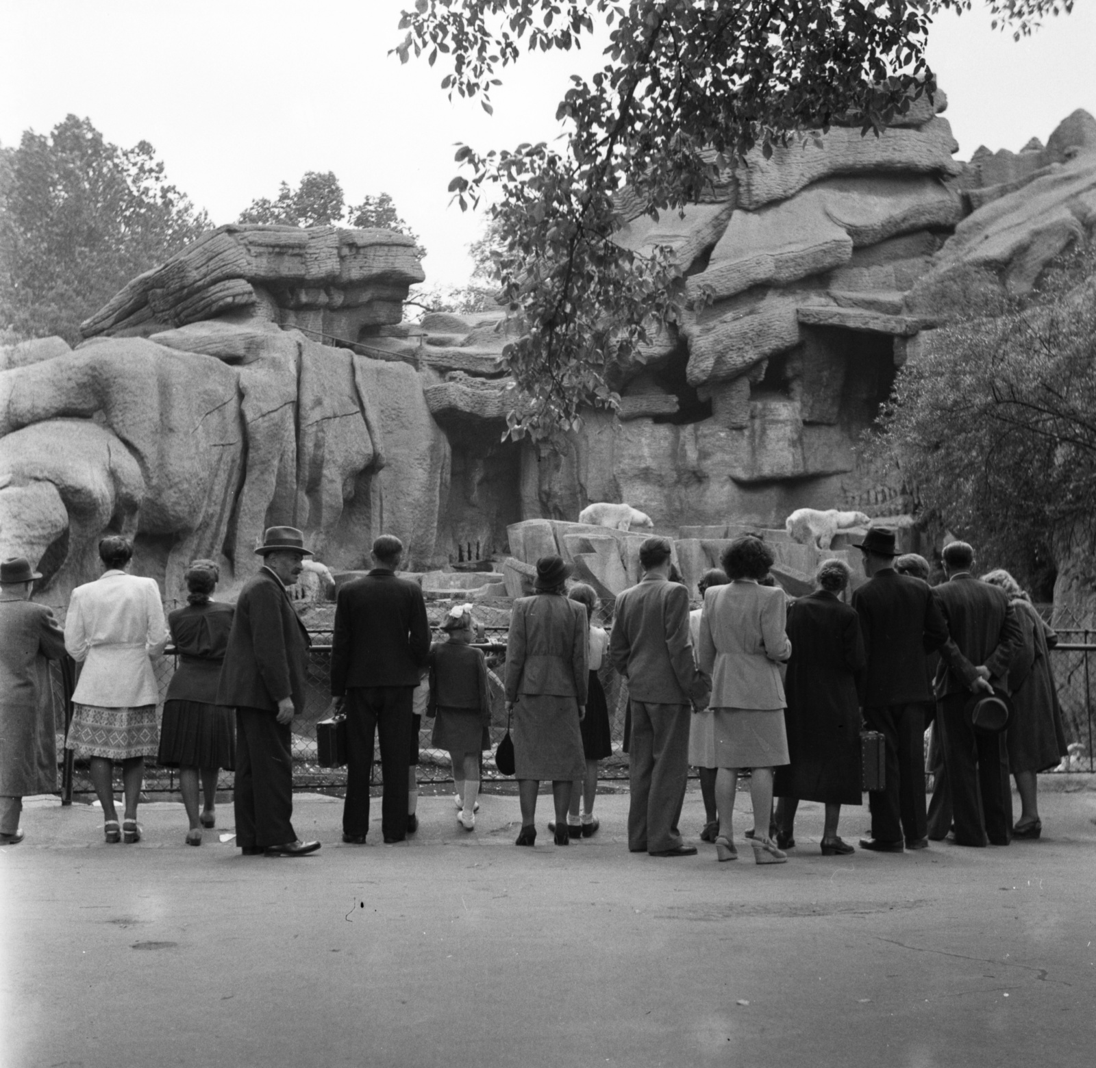
[[[276,712],[277,702],[292,697],[293,710],[300,715],[310,644],[285,586],[263,567],[236,601],[217,703]]]

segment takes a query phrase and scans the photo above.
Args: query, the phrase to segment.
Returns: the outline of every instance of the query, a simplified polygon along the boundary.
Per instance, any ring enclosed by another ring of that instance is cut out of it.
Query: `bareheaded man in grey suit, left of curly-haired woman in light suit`
[[[613,666],[628,679],[631,702],[628,848],[652,857],[690,857],[677,830],[688,782],[693,702],[707,697],[688,627],[688,590],[670,582],[671,544],[648,538],[639,549],[643,578],[616,600]]]

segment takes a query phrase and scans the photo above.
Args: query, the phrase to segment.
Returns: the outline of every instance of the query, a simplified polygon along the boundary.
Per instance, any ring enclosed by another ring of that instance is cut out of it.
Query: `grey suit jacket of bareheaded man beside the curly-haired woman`
[[[644,575],[616,600],[609,636],[613,666],[628,679],[628,697],[650,704],[688,704],[708,691],[697,670],[688,628],[688,590]]]

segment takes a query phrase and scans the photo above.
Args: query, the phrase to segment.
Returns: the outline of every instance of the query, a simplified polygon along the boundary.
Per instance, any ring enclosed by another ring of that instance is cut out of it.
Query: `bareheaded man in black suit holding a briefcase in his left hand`
[[[343,841],[364,845],[369,830],[374,734],[380,739],[385,789],[380,830],[386,842],[408,834],[408,753],[412,692],[430,655],[422,588],[396,572],[403,542],[383,535],[376,566],[339,590],[331,640],[332,710],[346,713],[346,801]]]

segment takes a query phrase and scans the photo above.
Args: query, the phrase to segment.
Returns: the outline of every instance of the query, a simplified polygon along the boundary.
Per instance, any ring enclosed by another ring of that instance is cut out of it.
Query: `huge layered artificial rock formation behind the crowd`
[[[913,491],[856,449],[897,368],[924,331],[1026,292],[1096,226],[1089,115],[962,163],[943,110],[938,94],[879,137],[853,116],[752,153],[658,221],[626,191],[619,240],[670,249],[687,307],[614,369],[619,412],[587,413],[559,450],[505,439],[515,319],[402,321],[423,278],[410,239],[212,231],[129,283],[76,351],[0,351],[0,553],[39,560],[60,601],[98,572],[95,540],[124,530],[137,569],[179,596],[195,555],[238,585],[269,525],[302,528],[336,573],[385,530],[432,596],[521,593],[559,552],[610,598],[643,536],[562,521],[591,501],[649,514],[690,585],[752,529],[801,589],[819,556],[781,528],[802,506],[888,518],[916,548]],[[449,564],[467,577],[433,574]]]

